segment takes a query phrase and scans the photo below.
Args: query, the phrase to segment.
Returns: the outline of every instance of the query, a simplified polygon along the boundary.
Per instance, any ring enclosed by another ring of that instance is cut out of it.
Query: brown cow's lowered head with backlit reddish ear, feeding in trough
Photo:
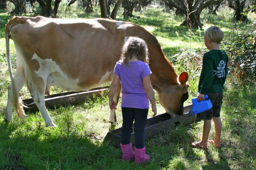
[[[172,118],[183,114],[183,103],[188,99],[188,73],[181,72],[177,80],[178,84],[163,84],[157,89],[158,102]]]

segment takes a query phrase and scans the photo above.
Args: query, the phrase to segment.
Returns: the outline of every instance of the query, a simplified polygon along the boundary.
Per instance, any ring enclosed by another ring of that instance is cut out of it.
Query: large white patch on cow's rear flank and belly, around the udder
[[[56,84],[65,90],[80,90],[77,86],[79,80],[68,77],[52,59],[41,59],[36,53],[34,53],[32,60],[33,59],[36,59],[39,63],[40,67],[35,72],[38,77],[43,79],[44,84],[47,83],[47,78],[51,75],[53,79],[52,84]]]

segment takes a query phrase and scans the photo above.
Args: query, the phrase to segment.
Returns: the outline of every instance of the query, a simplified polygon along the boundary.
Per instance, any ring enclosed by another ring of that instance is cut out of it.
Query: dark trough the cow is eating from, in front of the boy
[[[145,139],[156,136],[157,134],[173,128],[175,125],[189,125],[193,122],[197,122],[199,119],[196,115],[190,116],[188,112],[190,111],[192,105],[187,105],[184,107],[184,114],[171,118],[168,113],[159,114],[155,117],[147,119],[147,124],[145,127]],[[108,141],[113,144],[114,147],[119,148],[121,143],[121,129],[118,128],[107,133],[104,141]],[[134,131],[131,133],[132,145],[135,144]]]

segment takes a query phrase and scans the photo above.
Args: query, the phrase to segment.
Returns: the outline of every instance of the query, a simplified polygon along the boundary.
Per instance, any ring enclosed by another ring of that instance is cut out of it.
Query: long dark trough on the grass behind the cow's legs
[[[88,91],[78,91],[78,92],[71,91],[71,92],[65,92],[65,93],[52,94],[50,95],[50,98],[47,98],[47,96],[45,96],[45,106],[46,108],[53,109],[59,106],[79,104],[88,99],[92,99],[93,95],[97,97],[97,96],[100,96],[103,92],[108,90],[109,90],[109,86],[104,86],[104,87],[96,87]],[[24,107],[25,110],[28,110],[30,112],[39,111],[36,106],[36,103],[32,98],[23,100],[23,103],[27,106],[27,107]]]

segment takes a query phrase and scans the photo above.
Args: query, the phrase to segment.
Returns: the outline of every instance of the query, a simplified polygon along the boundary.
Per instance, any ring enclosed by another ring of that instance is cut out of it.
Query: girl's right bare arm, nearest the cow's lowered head
[[[142,79],[142,81],[143,81],[143,86],[147,93],[148,99],[150,100],[150,103],[152,105],[152,112],[154,112],[153,114],[153,117],[154,117],[157,114],[157,110],[156,110],[155,94],[151,85],[150,76],[147,75]]]

